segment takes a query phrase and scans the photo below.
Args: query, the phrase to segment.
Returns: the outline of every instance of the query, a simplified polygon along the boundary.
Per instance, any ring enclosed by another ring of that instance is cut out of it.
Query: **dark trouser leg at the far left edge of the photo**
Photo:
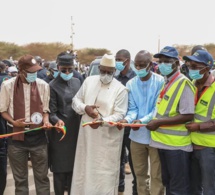
[[[3,195],[7,179],[7,147],[5,140],[0,142],[0,195]]]

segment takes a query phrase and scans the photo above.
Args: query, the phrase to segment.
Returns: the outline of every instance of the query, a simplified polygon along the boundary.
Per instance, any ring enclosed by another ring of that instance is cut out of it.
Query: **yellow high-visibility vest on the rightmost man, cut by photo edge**
[[[195,107],[194,122],[215,119],[215,82],[207,88]],[[192,132],[191,140],[200,146],[215,147],[215,129],[213,132]]]

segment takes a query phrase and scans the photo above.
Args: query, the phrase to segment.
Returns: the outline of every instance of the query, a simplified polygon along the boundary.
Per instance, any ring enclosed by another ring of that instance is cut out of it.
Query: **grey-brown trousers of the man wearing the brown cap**
[[[28,156],[31,156],[37,195],[50,195],[47,145],[35,147],[8,146],[8,157],[15,180],[15,194],[29,195]]]

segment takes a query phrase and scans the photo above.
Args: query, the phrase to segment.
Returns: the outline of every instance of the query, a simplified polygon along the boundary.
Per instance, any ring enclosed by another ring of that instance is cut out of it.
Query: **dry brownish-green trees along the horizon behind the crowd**
[[[173,45],[179,51],[181,57],[190,55],[194,45]],[[203,45],[215,59],[215,44],[208,43]],[[11,56],[14,60],[18,60],[24,54],[40,56],[45,60],[55,60],[57,55],[62,51],[70,50],[71,45],[60,42],[55,43],[29,43],[19,46],[15,43],[0,42],[0,59],[9,59]],[[105,53],[110,54],[110,51],[104,48],[83,48],[76,50],[77,61],[80,64],[90,64],[96,57],[103,56]]]

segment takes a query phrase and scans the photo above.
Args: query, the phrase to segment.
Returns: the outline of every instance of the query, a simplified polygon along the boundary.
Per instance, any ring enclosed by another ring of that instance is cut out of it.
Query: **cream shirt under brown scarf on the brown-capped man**
[[[11,78],[2,83],[1,92],[0,92],[0,112],[8,112],[13,118],[13,92],[15,79]],[[36,79],[37,87],[40,93],[41,101],[43,103],[43,112],[49,112],[49,99],[50,99],[50,90],[49,85],[42,79]],[[24,102],[25,102],[25,118],[26,122],[30,122],[30,94],[31,94],[31,85],[23,83],[24,90]]]

